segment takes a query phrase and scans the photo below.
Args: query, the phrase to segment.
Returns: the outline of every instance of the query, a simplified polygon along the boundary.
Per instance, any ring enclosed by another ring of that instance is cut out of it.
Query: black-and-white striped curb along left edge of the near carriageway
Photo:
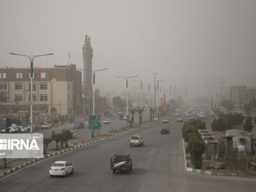
[[[125,132],[122,132],[122,133],[118,133],[118,134],[115,134],[113,136],[109,136],[107,138],[102,138],[100,140],[92,141],[90,143],[84,143],[83,145],[78,145],[76,147],[71,147],[71,148],[67,148],[67,149],[64,149],[64,150],[60,150],[60,151],[54,152],[52,154],[47,154],[47,155],[44,155],[44,157],[42,157],[42,158],[31,159],[30,161],[28,161],[26,163],[20,164],[19,166],[16,166],[15,168],[12,168],[10,170],[7,170],[6,172],[1,173],[0,174],[0,179],[4,176],[10,174],[10,173],[13,173],[17,170],[20,170],[20,168],[24,168],[25,166],[28,166],[29,164],[35,163],[35,162],[40,161],[42,159],[46,159],[47,157],[57,156],[58,154],[65,154],[66,152],[76,150],[77,148],[83,148],[83,147],[86,147],[86,146],[90,146],[94,143],[99,143],[101,141],[111,140],[112,138],[117,138],[117,137],[120,137],[120,136],[124,136],[125,134],[129,134],[129,133],[134,132],[134,131],[138,131],[138,128],[137,129],[132,129],[131,131],[125,131]]]

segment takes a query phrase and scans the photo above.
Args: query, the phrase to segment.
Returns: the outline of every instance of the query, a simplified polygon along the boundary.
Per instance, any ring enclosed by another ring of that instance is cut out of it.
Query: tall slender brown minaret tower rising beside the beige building
[[[93,49],[91,46],[91,38],[87,35],[85,36],[83,50],[83,59],[84,59],[84,83],[83,90],[86,93],[92,92],[92,72],[88,70],[92,70],[92,57],[93,57]]]

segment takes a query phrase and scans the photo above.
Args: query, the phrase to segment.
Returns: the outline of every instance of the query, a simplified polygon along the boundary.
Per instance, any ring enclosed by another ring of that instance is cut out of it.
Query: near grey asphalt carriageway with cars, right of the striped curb
[[[183,114],[183,113],[181,113]],[[170,134],[160,134],[170,127]],[[145,140],[143,147],[130,147],[131,134],[74,152],[52,157],[0,180],[1,191],[255,191],[256,182],[238,177],[198,175],[184,171],[182,123],[149,125],[134,132]],[[113,174],[113,154],[131,154],[132,171]],[[75,171],[65,177],[49,177],[54,161],[66,160]]]

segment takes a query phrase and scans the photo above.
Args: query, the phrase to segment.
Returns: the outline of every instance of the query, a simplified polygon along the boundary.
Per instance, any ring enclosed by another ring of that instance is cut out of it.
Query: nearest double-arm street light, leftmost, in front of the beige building
[[[13,54],[15,56],[24,56],[24,57],[29,58],[29,60],[30,60],[30,133],[32,134],[33,133],[33,127],[32,127],[32,125],[33,125],[33,106],[32,106],[33,96],[32,96],[32,92],[33,92],[33,65],[34,65],[33,62],[36,57],[49,56],[49,55],[52,55],[53,53],[39,54],[36,56],[28,56],[25,54],[17,54],[17,53],[13,53],[13,52],[10,52],[10,54]]]

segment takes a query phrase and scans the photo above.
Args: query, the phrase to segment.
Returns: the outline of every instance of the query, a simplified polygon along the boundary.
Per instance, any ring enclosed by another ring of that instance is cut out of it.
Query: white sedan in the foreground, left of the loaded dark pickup
[[[67,161],[56,161],[52,164],[49,174],[50,176],[61,175],[67,177],[69,173],[74,172],[74,165]]]

